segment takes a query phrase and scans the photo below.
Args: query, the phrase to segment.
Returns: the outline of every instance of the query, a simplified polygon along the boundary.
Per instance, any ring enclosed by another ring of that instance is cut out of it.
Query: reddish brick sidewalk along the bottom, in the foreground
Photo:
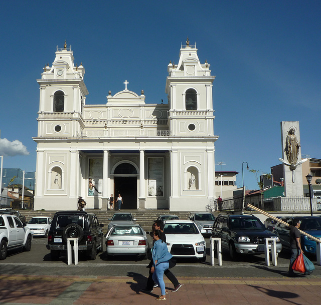
[[[130,276],[0,275],[0,304],[141,305],[156,304],[160,293],[140,291],[146,278]],[[163,303],[175,305],[319,305],[320,278],[200,278],[180,277],[184,285]],[[166,286],[172,284],[166,279]]]

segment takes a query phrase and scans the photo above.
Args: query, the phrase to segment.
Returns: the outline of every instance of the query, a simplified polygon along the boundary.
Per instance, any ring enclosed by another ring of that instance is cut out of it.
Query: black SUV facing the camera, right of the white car
[[[215,219],[212,237],[221,238],[222,249],[228,250],[232,259],[238,254],[263,254],[265,237],[276,238],[278,253],[282,249],[279,237],[253,215],[220,214]]]

